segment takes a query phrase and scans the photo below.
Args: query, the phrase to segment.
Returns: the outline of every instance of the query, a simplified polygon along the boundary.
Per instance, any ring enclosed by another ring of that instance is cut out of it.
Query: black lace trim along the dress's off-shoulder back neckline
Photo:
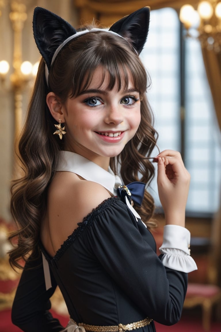
[[[61,245],[61,247],[56,252],[53,257],[54,261],[58,261],[60,257],[65,253],[65,251],[70,247],[70,245],[76,240],[76,238],[83,232],[85,227],[91,225],[94,218],[100,213],[102,213],[107,207],[112,206],[117,202],[121,202],[121,199],[118,197],[111,197],[103,201],[96,208],[94,208],[86,217],[83,218],[82,222],[78,223],[78,228],[76,228],[71,235],[68,236],[67,240]]]

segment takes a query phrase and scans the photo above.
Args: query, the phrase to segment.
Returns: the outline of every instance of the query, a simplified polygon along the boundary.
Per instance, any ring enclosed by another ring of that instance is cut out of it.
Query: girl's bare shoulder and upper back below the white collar
[[[57,172],[48,190],[48,216],[41,236],[45,238],[44,242],[50,239],[55,253],[78,223],[110,197],[110,193],[96,182],[80,179],[71,172]]]

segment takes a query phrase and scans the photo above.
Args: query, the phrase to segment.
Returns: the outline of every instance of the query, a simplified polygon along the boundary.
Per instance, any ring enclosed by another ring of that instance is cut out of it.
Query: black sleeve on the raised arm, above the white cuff
[[[98,211],[87,220],[90,250],[145,316],[165,325],[176,323],[187,274],[164,267],[150,245],[152,235],[121,202]]]

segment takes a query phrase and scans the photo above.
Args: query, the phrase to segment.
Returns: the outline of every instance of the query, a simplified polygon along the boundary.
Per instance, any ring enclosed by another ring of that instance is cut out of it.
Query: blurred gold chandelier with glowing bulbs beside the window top
[[[184,5],[180,9],[180,21],[188,37],[197,37],[203,48],[221,52],[221,1],[199,1],[197,10]]]

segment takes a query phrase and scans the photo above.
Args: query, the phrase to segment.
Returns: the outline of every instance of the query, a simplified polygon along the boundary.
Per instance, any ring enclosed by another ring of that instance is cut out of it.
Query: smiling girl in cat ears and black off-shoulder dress
[[[158,257],[145,191],[157,135],[138,56],[148,24],[148,7],[109,30],[78,32],[34,10],[42,59],[19,144],[25,175],[11,202],[19,230],[10,262],[26,262],[12,321],[23,331],[155,331],[154,320],[180,319],[196,269],[184,227],[190,176],[178,152],[154,159],[166,219]],[[48,311],[57,285],[65,329]]]

